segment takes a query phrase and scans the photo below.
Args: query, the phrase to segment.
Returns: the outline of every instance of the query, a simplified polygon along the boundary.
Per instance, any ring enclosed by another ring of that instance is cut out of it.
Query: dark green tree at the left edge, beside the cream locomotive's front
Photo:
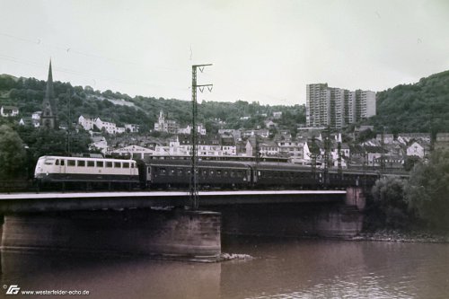
[[[13,179],[24,174],[25,146],[21,137],[9,126],[0,126],[0,178]]]

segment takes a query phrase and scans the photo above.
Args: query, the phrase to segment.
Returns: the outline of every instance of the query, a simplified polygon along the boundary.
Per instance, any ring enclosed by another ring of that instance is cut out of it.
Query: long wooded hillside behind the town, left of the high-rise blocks
[[[41,110],[46,82],[35,78],[15,78],[0,75],[0,105],[12,105],[19,108],[21,117],[30,117],[32,112]],[[181,126],[191,121],[190,101],[174,99],[156,99],[154,97],[136,96],[120,92],[94,91],[92,87],[72,86],[69,83],[54,82],[57,97],[58,118],[62,125],[67,122],[68,107],[71,121],[76,122],[80,115],[100,117],[121,126],[124,123],[141,125],[144,131],[154,128],[159,111],[163,110],[167,119],[176,120]],[[70,105],[67,104],[66,92],[71,93]],[[253,101],[215,102],[203,101],[198,104],[198,121],[202,122],[208,132],[218,128],[263,128],[264,120],[273,112],[281,111],[282,118],[277,119],[281,128],[295,131],[297,124],[305,123],[304,105],[269,106]],[[249,119],[241,119],[251,117]]]

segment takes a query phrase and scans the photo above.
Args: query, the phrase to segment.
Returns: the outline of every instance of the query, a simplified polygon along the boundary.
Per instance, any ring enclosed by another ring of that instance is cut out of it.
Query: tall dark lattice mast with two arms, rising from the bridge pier
[[[191,167],[190,167],[190,205],[193,210],[197,210],[199,206],[198,202],[198,130],[197,130],[197,112],[198,112],[198,102],[197,102],[197,88],[200,92],[204,91],[207,87],[209,92],[212,92],[213,84],[197,84],[197,69],[201,71],[204,70],[205,66],[212,66],[212,64],[207,65],[193,65],[192,66],[192,128],[191,128]]]

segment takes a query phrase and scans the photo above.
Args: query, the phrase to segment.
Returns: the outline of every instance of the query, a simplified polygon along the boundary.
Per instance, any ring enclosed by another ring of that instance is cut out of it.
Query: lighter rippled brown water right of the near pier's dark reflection
[[[449,295],[447,244],[300,240],[241,242],[240,248],[260,259],[223,264],[223,298]]]

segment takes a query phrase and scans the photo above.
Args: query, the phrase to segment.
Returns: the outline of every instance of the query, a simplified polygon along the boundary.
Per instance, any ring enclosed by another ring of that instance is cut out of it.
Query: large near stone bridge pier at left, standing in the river
[[[2,251],[70,251],[216,261],[221,215],[124,209],[4,215]]]

